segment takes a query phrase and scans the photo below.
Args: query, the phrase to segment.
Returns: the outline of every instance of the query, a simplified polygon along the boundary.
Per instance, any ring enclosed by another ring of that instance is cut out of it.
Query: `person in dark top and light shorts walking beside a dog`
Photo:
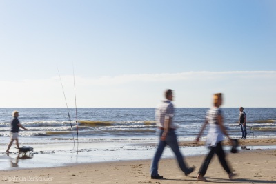
[[[19,148],[19,142],[18,142],[19,127],[23,128],[24,130],[28,130],[27,128],[23,127],[23,125],[21,125],[19,123],[19,120],[18,120],[19,112],[18,111],[14,110],[14,112],[12,112],[12,116],[13,116],[13,119],[10,122],[10,126],[11,126],[10,139],[11,140],[8,145],[8,149],[6,150],[6,153],[10,153],[10,147],[12,146],[12,143],[14,140],[17,144],[17,148]]]

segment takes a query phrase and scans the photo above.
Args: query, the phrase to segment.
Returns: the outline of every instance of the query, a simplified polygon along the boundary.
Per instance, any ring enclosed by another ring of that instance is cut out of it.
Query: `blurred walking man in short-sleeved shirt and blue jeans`
[[[187,167],[184,157],[182,156],[179,145],[177,143],[177,135],[175,134],[175,126],[172,122],[174,115],[174,108],[172,104],[172,90],[166,90],[166,100],[162,101],[155,110],[155,121],[157,124],[157,135],[159,136],[159,143],[155,156],[152,159],[150,174],[152,179],[162,179],[163,176],[158,174],[158,163],[166,145],[168,145],[175,153],[180,169],[186,176],[195,170],[195,167]]]

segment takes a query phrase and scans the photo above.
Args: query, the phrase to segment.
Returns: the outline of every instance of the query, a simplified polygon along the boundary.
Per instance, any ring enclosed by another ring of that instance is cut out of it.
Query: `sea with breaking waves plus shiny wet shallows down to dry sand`
[[[19,131],[19,145],[34,148],[32,154],[18,153],[10,142],[12,111],[26,130]],[[179,141],[195,140],[208,108],[175,108],[174,122]],[[221,108],[224,125],[233,139],[242,135],[239,108]],[[275,139],[276,108],[245,108],[248,139]],[[0,108],[0,170],[14,167],[58,167],[79,163],[152,159],[157,143],[155,108]],[[206,139],[207,130],[201,140]],[[230,150],[230,147],[224,147]],[[253,149],[276,149],[246,147]],[[205,146],[181,146],[185,156],[206,154]],[[241,150],[243,151],[243,150]],[[162,155],[172,158],[170,149]]]

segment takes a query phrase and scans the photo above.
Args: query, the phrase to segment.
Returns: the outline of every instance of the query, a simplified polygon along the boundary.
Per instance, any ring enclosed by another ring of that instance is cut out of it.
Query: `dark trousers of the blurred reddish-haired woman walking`
[[[221,163],[221,166],[224,167],[224,170],[226,170],[226,172],[228,174],[231,172],[230,168],[228,167],[228,164],[226,162],[225,153],[224,153],[224,150],[222,149],[221,142],[219,142],[219,143],[217,143],[217,146],[212,147],[212,149],[206,156],[204,162],[202,163],[202,165],[199,169],[199,174],[201,174],[202,176],[204,176],[206,174],[208,165],[209,165],[210,161],[212,160],[214,154],[217,154],[217,156],[219,157],[219,162]]]

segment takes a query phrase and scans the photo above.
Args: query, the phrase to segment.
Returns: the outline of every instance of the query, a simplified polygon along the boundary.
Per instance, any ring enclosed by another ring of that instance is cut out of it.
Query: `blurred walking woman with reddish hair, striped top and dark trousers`
[[[199,132],[199,135],[195,140],[196,142],[199,141],[201,134],[204,132],[206,125],[209,125],[206,145],[210,149],[210,152],[207,154],[206,158],[204,159],[204,162],[202,163],[199,169],[197,180],[200,180],[200,181],[207,181],[206,178],[204,178],[204,176],[207,172],[208,165],[212,160],[214,154],[217,154],[217,156],[219,157],[219,162],[221,163],[221,166],[224,167],[224,170],[226,170],[230,179],[236,175],[230,170],[228,163],[225,159],[226,155],[221,145],[222,144],[221,142],[224,140],[224,135],[228,137],[231,145],[233,145],[233,142],[230,139],[230,136],[226,131],[226,128],[224,127],[223,116],[221,114],[221,109],[219,108],[219,106],[222,103],[222,94],[221,93],[214,94],[213,100],[214,100],[213,102],[214,106],[213,108],[210,108],[207,111],[205,123],[201,127],[201,131]]]

